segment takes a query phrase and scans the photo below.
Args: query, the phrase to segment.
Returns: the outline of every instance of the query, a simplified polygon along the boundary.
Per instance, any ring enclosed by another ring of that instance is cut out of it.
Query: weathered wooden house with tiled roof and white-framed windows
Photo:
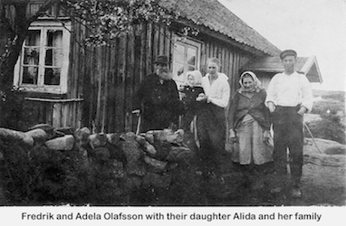
[[[36,112],[31,124],[133,131],[132,99],[140,81],[152,72],[156,56],[168,55],[177,81],[184,80],[186,71],[205,74],[207,58],[217,57],[233,92],[247,62],[280,53],[216,0],[161,4],[177,6],[181,17],[169,27],[135,26],[111,46],[82,47],[88,31],[56,9],[31,24],[14,71],[14,86]],[[26,13],[34,14],[39,6],[30,4]],[[183,37],[185,26],[196,29],[197,35]]]

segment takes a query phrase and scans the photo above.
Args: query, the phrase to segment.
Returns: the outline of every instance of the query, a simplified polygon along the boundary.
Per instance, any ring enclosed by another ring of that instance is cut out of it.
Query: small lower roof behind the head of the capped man
[[[283,63],[280,57],[262,57],[255,58],[246,63],[244,71],[263,71],[269,73],[279,73],[284,71]],[[322,82],[322,75],[315,56],[297,57],[295,70],[303,73],[310,82]]]

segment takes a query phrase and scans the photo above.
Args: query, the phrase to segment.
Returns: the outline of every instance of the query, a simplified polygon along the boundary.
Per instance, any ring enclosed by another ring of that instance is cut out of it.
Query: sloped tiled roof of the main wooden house
[[[181,16],[191,20],[194,24],[204,25],[217,33],[226,35],[235,42],[271,56],[281,52],[274,44],[267,41],[217,0],[161,0],[161,4],[168,8],[177,7]]]

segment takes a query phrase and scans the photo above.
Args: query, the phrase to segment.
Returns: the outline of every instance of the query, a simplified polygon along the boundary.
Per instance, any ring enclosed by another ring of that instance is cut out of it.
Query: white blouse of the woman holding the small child
[[[224,73],[217,73],[217,79],[210,85],[209,74],[202,78],[202,87],[208,96],[207,102],[211,102],[218,107],[226,108],[229,101],[230,88],[228,77]]]

